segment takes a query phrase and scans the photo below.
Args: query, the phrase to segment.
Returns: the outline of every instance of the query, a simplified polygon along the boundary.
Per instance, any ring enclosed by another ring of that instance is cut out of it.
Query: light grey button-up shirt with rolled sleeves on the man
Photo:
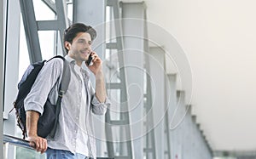
[[[81,122],[79,122],[81,108],[81,99],[85,98],[86,108],[84,112],[85,116],[85,129],[88,137],[88,142],[84,143],[89,150],[89,156],[96,158],[96,140],[94,137],[92,113],[96,115],[103,115],[107,111],[107,106],[110,105],[108,98],[105,103],[100,103],[96,99],[95,89],[90,82],[88,71],[81,69],[83,81],[74,70],[75,60],[69,56],[65,57],[71,71],[70,82],[68,85],[67,93],[63,95],[61,99],[61,111],[59,115],[59,122],[56,128],[55,137],[51,139],[49,136],[48,146],[57,150],[69,150],[72,153],[76,153],[77,150],[77,133],[81,128]],[[49,60],[42,70],[39,72],[36,81],[34,82],[31,92],[25,99],[25,110],[38,111],[40,114],[44,112],[44,103],[49,98],[52,104],[56,104],[58,98],[58,88],[61,82],[61,75],[63,70],[63,60],[55,58]],[[85,94],[82,94],[82,85],[85,88]],[[83,95],[83,96],[82,96]],[[81,145],[79,145],[80,147]]]

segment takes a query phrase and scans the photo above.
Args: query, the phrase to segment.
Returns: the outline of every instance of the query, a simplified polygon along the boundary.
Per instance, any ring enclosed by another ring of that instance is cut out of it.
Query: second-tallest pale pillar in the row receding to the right
[[[154,83],[151,84],[154,90],[154,99],[152,110],[154,111],[154,134],[155,134],[155,151],[156,158],[165,158],[165,145],[167,139],[165,137],[166,124],[166,102],[165,102],[165,51],[161,47],[151,47],[149,48],[149,54],[151,58],[149,59],[149,73]]]

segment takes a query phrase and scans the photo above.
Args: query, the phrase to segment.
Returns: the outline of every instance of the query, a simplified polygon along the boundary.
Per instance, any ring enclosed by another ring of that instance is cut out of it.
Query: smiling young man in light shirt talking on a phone
[[[71,71],[67,93],[61,100],[61,111],[55,137],[43,139],[38,136],[38,118],[44,112],[44,103],[49,99],[56,103],[63,69],[63,60],[49,60],[38,74],[30,94],[25,100],[27,139],[36,150],[48,159],[96,158],[92,113],[103,115],[110,105],[106,95],[102,73],[102,60],[91,49],[96,31],[81,23],[68,27],[64,34],[67,51],[65,57]],[[82,64],[92,55],[92,65],[87,65],[96,77],[92,87],[88,71]]]

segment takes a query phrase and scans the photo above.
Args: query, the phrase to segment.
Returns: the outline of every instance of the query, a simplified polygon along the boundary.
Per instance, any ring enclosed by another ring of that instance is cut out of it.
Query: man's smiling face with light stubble
[[[79,32],[77,37],[73,39],[73,43],[70,44],[68,54],[78,65],[81,65],[83,61],[88,60],[91,50],[91,38],[87,32]]]

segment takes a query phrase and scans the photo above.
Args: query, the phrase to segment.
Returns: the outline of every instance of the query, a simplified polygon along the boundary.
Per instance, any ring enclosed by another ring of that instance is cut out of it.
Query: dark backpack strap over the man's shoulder
[[[67,60],[63,56],[60,56],[60,55],[57,55],[53,58],[61,58],[63,60],[63,71],[62,71],[61,83],[60,83],[60,87],[59,87],[58,99],[57,99],[57,102],[56,102],[55,125],[52,128],[51,132],[49,133],[49,136],[51,138],[54,138],[54,136],[55,136],[57,123],[59,121],[59,114],[60,114],[60,111],[61,111],[61,99],[62,99],[63,94],[66,94],[68,84],[70,82],[70,68],[69,68],[69,65],[67,63]],[[52,59],[50,59],[50,60],[52,60]]]

